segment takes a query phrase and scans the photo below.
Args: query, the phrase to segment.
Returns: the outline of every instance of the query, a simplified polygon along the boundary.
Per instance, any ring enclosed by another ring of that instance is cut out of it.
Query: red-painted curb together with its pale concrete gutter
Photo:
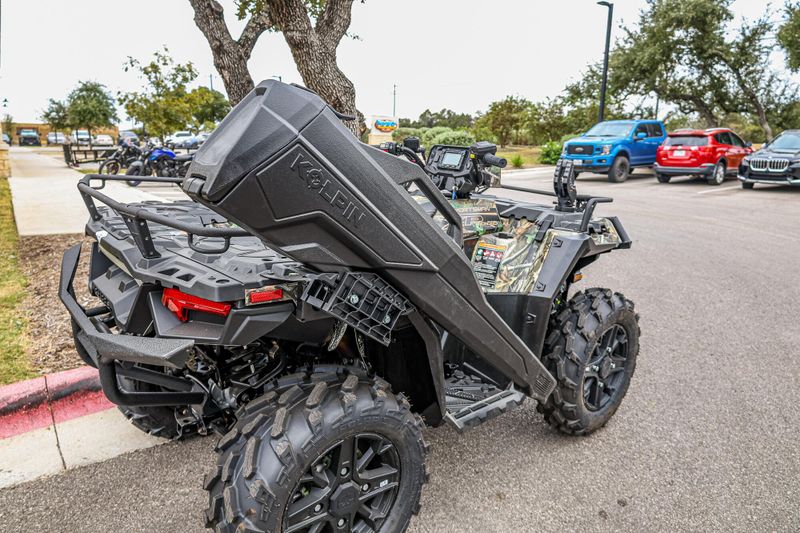
[[[125,419],[93,368],[0,387],[0,488],[164,442]]]

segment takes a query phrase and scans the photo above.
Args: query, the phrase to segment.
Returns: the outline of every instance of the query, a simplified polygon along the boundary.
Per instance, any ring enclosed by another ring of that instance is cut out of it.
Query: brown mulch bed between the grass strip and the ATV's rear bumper
[[[90,241],[80,234],[20,238],[20,268],[28,279],[28,294],[21,306],[28,320],[27,352],[31,364],[42,374],[84,364],[73,345],[69,314],[58,298],[61,256],[80,241],[84,245],[75,292],[81,305],[92,307],[99,301],[86,288]]]

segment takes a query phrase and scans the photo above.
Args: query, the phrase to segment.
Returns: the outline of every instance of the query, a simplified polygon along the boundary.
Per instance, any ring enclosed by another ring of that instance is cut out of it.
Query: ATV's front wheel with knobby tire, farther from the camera
[[[614,415],[636,368],[639,316],[608,289],[576,294],[550,323],[543,363],[556,377],[538,409],[563,433],[586,435]]]

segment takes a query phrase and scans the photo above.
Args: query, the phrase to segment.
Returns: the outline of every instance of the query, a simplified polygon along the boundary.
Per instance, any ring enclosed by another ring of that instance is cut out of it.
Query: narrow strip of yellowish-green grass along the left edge
[[[36,376],[25,355],[27,322],[18,309],[25,297],[19,237],[8,180],[0,179],[0,385]]]

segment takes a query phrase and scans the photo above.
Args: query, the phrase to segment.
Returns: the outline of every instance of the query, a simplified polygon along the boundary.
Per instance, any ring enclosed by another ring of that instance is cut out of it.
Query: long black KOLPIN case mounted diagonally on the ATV
[[[418,166],[359,142],[307,89],[265,81],[197,151],[184,190],[319,272],[380,275],[537,398],[554,380],[487,303],[460,218]],[[434,224],[413,181],[450,221]],[[546,319],[545,317],[541,317]]]

